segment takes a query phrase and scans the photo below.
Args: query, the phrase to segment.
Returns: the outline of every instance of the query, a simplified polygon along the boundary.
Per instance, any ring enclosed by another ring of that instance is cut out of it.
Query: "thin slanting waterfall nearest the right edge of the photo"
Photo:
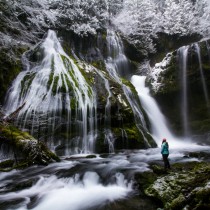
[[[202,60],[201,60],[201,53],[200,53],[200,46],[198,45],[198,43],[195,43],[194,46],[195,46],[196,53],[198,55],[199,70],[200,70],[200,75],[201,75],[203,92],[204,92],[204,97],[205,97],[206,104],[207,104],[207,107],[208,107],[208,104],[209,104],[209,96],[208,96],[208,90],[207,90],[207,86],[206,86],[205,77],[204,77],[204,74],[203,74]]]

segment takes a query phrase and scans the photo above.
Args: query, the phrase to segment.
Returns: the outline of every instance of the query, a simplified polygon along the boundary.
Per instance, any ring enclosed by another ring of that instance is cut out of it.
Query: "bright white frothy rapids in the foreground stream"
[[[86,172],[80,181],[79,176],[74,178],[58,179],[56,176],[49,178],[41,177],[40,180],[31,188],[19,192],[4,195],[6,199],[25,198],[21,208],[27,208],[26,196],[39,194],[41,202],[34,210],[79,210],[88,209],[94,206],[100,206],[105,202],[111,202],[116,199],[122,199],[131,191],[131,186],[124,180],[122,174],[116,174],[116,183],[104,186],[100,184],[100,177],[95,172]],[[1,196],[0,196],[1,199]]]

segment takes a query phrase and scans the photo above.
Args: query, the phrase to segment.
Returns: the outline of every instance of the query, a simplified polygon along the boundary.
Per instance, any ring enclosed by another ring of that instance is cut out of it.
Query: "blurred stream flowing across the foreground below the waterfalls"
[[[170,162],[198,161],[183,158],[185,149],[171,149]],[[159,148],[124,150],[93,159],[75,155],[45,167],[1,173],[0,209],[156,210],[153,201],[139,194],[134,179],[154,162],[162,163]]]

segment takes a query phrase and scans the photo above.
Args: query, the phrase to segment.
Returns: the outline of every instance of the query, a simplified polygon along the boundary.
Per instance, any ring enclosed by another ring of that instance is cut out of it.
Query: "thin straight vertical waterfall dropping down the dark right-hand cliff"
[[[189,46],[183,46],[178,50],[179,54],[179,65],[182,72],[182,116],[183,116],[183,128],[184,136],[189,136],[189,125],[188,125],[188,103],[187,103],[187,61],[188,61],[188,48]]]

